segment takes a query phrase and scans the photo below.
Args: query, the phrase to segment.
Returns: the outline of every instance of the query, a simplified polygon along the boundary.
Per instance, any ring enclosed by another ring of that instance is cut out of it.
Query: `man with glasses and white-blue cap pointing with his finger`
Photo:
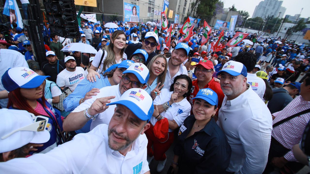
[[[124,76],[118,85],[101,88],[100,93],[97,93],[97,95],[92,96],[92,98],[82,102],[75,108],[64,120],[64,130],[78,130],[91,119],[93,121],[91,122],[90,130],[99,124],[109,124],[115,106],[106,107],[105,103],[117,101],[128,89],[145,89],[147,87],[145,84],[149,78],[149,71],[144,64],[133,63],[123,74]]]

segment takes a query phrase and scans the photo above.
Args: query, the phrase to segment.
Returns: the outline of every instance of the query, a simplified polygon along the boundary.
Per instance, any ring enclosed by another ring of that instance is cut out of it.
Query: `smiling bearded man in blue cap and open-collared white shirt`
[[[171,53],[171,57],[167,59],[168,68],[166,73],[164,88],[170,89],[173,80],[176,76],[181,74],[187,75],[187,69],[183,65],[186,57],[188,56],[190,47],[186,43],[178,43]]]

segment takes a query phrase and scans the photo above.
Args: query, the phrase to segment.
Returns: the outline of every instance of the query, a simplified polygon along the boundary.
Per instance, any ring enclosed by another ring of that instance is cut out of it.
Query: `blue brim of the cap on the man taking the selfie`
[[[146,115],[141,109],[140,107],[138,107],[134,102],[128,101],[128,100],[119,100],[113,103],[108,103],[107,106],[109,105],[116,105],[116,104],[121,104],[124,105],[125,107],[127,107],[129,110],[131,110],[132,113],[134,113],[140,120],[150,120],[152,113],[148,112],[148,115]],[[152,108],[154,108],[153,104],[151,105],[151,111]],[[154,110],[154,109],[153,109]]]

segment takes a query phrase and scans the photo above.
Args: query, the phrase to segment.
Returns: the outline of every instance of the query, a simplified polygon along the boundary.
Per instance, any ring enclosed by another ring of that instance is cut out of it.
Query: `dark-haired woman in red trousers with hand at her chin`
[[[176,76],[169,89],[162,89],[154,99],[151,127],[145,131],[148,138],[148,162],[159,161],[157,172],[162,172],[166,163],[165,152],[174,140],[173,130],[179,128],[191,111],[186,97],[190,94],[192,80],[187,75]],[[153,150],[152,150],[153,146]]]

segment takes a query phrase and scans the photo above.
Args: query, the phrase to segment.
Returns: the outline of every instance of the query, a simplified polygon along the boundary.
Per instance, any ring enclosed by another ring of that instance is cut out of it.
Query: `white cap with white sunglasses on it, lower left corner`
[[[35,117],[27,111],[15,109],[0,109],[0,117],[0,153],[18,149],[28,143],[45,143],[50,139],[50,133],[45,130],[48,122],[47,117]],[[34,124],[34,119],[39,117],[40,121]],[[27,127],[27,131],[17,131],[25,127]],[[12,134],[10,135],[10,133]]]

